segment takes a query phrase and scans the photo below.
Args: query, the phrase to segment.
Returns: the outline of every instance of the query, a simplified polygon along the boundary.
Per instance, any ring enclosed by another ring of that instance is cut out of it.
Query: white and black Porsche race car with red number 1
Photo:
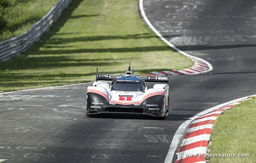
[[[98,75],[87,89],[87,116],[148,115],[165,118],[169,111],[168,77],[137,76],[133,69],[125,75]],[[98,80],[112,80],[112,84]],[[147,89],[145,81],[165,82]]]

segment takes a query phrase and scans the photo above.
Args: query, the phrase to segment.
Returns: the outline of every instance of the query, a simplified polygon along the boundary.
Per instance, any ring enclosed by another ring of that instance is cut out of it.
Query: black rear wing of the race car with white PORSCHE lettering
[[[133,74],[133,71],[132,71]],[[98,80],[114,80],[119,75],[99,75],[98,68],[96,70],[96,81]],[[169,84],[169,71],[168,76],[139,76],[144,81],[152,81],[152,82],[164,82]]]

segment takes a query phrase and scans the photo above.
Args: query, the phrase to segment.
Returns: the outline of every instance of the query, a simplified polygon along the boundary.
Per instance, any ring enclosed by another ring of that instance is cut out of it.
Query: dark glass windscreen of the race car
[[[139,80],[114,80],[111,84],[111,90],[121,91],[145,91],[143,81]]]

